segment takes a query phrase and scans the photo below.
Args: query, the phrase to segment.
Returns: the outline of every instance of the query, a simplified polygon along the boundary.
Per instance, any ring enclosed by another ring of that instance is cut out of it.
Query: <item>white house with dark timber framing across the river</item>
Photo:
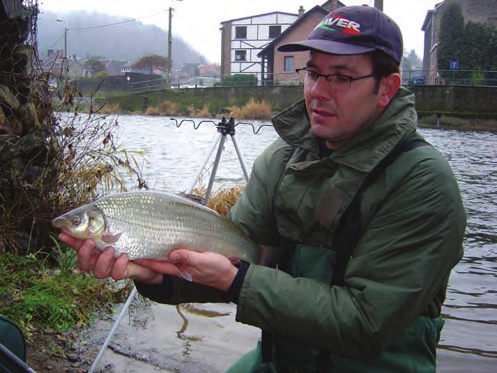
[[[272,12],[221,22],[221,75],[254,74],[260,80],[257,54],[293,24],[297,14]]]

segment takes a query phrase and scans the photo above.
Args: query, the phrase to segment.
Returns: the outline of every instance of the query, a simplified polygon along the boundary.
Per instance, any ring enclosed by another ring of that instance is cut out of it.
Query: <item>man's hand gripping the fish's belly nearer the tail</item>
[[[136,260],[155,273],[183,277],[186,280],[227,291],[238,269],[215,252],[194,252],[178,248],[169,253],[169,261]]]

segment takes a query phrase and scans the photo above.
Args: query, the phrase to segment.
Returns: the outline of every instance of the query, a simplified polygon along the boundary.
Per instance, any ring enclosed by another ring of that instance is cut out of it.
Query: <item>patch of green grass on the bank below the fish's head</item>
[[[129,293],[129,284],[116,289],[91,273],[51,268],[49,262],[43,252],[0,254],[0,314],[13,319],[28,339],[45,328],[63,331],[88,323]]]

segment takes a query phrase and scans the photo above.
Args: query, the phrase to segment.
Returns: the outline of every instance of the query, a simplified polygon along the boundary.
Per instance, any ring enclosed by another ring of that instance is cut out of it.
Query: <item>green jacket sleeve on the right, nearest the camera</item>
[[[443,155],[429,154],[402,180],[389,180],[387,169],[382,182],[393,185],[353,250],[344,286],[250,266],[236,320],[342,356],[376,356],[388,347],[462,257],[459,188]]]

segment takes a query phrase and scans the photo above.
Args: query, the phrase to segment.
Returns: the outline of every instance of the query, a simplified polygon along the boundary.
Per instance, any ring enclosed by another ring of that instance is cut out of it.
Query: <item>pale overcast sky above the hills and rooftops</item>
[[[421,26],[427,10],[441,0],[383,0],[383,11],[399,24],[404,36],[404,49],[414,49],[422,58]],[[312,0],[41,0],[40,10],[64,13],[87,10],[110,15],[137,18],[144,24],[168,28],[168,8],[174,8],[173,36],[178,35],[206,58],[221,61],[221,22],[261,13],[281,11],[298,13],[299,6],[307,11],[325,1]],[[374,0],[342,0],[348,6],[369,4]],[[43,17],[43,14],[41,15]],[[71,25],[67,24],[70,29]],[[105,29],[102,29],[105,32]],[[174,40],[173,40],[174,43]],[[163,55],[167,55],[167,45]],[[174,56],[173,56],[174,59]]]

